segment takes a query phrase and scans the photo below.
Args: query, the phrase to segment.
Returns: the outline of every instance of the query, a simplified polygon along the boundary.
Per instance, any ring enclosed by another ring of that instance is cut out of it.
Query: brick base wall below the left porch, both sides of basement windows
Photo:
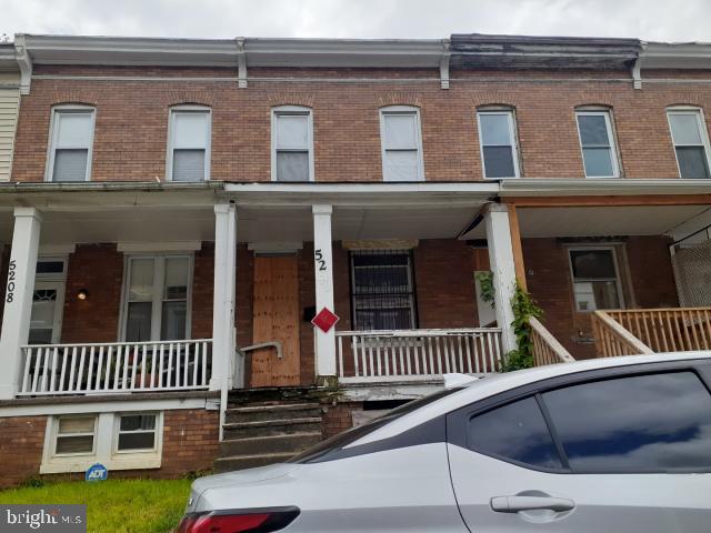
[[[109,472],[110,477],[180,477],[212,469],[219,451],[219,411],[174,410],[163,414],[160,469]],[[47,416],[0,419],[0,489],[39,476]],[[51,480],[82,480],[83,473],[48,474]]]

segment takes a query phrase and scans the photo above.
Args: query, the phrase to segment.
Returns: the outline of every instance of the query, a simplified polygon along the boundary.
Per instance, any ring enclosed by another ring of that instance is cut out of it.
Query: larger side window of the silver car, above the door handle
[[[690,371],[542,394],[573,472],[711,470],[711,394]]]

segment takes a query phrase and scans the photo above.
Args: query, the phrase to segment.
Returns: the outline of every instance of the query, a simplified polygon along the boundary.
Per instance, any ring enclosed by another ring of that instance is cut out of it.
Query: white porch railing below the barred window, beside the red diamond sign
[[[337,331],[341,383],[429,380],[497,372],[501,329]]]

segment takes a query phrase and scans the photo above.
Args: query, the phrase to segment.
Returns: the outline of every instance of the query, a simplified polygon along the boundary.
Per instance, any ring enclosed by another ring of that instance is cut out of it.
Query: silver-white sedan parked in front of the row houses
[[[179,531],[707,533],[710,388],[709,353],[480,379],[197,480]]]

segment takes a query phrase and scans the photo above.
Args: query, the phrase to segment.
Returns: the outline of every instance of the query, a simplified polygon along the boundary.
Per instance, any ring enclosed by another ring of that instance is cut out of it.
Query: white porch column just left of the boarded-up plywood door
[[[232,388],[236,355],[237,207],[214,207],[214,294],[212,300],[212,376],[210,390]],[[239,374],[241,375],[241,374]]]

